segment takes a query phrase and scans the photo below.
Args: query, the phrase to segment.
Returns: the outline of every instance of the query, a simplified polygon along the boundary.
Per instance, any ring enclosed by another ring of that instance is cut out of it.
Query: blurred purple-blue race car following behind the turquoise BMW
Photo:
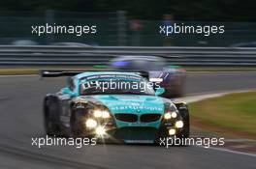
[[[119,56],[110,62],[113,70],[146,70],[150,81],[159,81],[166,92],[163,97],[176,98],[183,94],[186,71],[180,66],[168,65],[157,56]]]

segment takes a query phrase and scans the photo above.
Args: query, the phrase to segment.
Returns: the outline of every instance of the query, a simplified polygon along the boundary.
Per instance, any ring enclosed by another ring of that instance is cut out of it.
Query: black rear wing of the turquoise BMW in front
[[[60,76],[75,76],[82,72],[88,71],[112,71],[112,72],[134,72],[143,76],[146,79],[149,79],[149,73],[144,70],[41,70],[41,77],[60,77]]]

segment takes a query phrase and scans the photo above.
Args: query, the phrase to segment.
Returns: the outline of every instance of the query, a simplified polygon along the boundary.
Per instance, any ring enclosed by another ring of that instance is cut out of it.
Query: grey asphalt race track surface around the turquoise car
[[[0,77],[0,168],[182,168],[252,169],[255,156],[201,147],[150,145],[31,146],[45,136],[42,101],[65,85],[65,78]],[[185,93],[214,93],[256,87],[256,72],[189,73]]]

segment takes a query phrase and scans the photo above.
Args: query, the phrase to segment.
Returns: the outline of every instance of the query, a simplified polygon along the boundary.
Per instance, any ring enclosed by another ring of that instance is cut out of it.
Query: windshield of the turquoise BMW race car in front
[[[155,95],[153,83],[139,76],[108,74],[80,81],[80,95],[99,94]]]

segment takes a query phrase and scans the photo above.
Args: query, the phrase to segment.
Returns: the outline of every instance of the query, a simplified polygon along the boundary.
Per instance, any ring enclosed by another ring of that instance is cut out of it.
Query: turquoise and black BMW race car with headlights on
[[[116,143],[189,137],[186,103],[159,97],[164,88],[154,91],[144,71],[43,70],[42,76],[70,76],[67,87],[44,99],[48,135]]]

